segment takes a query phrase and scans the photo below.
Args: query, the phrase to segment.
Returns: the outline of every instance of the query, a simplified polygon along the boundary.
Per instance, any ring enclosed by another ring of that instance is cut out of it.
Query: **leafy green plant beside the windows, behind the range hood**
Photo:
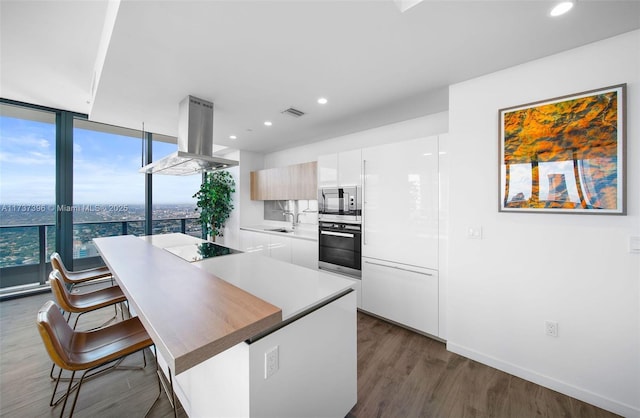
[[[193,195],[198,199],[196,212],[200,212],[202,237],[222,236],[224,224],[233,210],[232,194],[236,183],[228,171],[205,173],[200,190]]]

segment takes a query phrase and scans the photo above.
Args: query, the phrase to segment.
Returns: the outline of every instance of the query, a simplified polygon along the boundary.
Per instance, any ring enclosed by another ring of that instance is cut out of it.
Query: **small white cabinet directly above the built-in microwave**
[[[360,149],[318,157],[318,188],[361,186]]]

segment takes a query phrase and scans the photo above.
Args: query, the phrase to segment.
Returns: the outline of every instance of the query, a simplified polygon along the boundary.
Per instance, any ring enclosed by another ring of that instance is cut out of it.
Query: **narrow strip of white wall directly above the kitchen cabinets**
[[[440,112],[403,122],[343,135],[265,155],[265,168],[316,161],[319,155],[388,144],[447,132],[448,113]]]

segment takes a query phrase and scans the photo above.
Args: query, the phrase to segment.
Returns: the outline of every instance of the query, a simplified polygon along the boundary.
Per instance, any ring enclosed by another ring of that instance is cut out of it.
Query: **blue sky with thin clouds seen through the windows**
[[[177,145],[154,142],[159,159]],[[144,204],[141,139],[74,130],[74,204]],[[153,177],[154,204],[194,203],[201,177]],[[0,116],[0,204],[55,202],[55,125]]]

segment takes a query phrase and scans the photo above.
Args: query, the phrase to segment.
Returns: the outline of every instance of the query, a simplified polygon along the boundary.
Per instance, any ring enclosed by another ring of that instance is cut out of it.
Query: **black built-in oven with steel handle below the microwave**
[[[318,224],[318,267],[352,277],[362,277],[362,226],[339,222]]]

